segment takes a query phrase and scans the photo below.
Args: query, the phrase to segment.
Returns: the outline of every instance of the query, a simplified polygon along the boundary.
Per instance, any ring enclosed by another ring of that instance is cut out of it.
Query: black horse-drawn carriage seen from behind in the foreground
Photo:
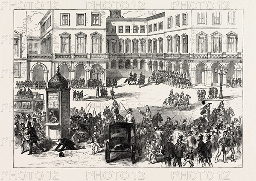
[[[110,153],[128,152],[131,153],[131,162],[135,163],[137,144],[135,139],[135,124],[128,122],[117,122],[108,128],[108,141],[105,143],[105,159],[110,162]],[[138,153],[141,153],[138,148]]]

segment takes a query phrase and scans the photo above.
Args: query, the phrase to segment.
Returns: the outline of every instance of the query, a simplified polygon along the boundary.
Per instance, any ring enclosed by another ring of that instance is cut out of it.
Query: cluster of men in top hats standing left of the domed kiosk
[[[33,113],[31,116],[21,112],[16,114],[14,118],[14,133],[17,139],[21,141],[21,154],[28,150],[25,150],[25,144],[29,144],[29,155],[36,150],[33,149],[33,144],[36,145],[42,152],[46,151],[45,148],[41,146],[45,139],[46,126],[46,112],[43,111]]]

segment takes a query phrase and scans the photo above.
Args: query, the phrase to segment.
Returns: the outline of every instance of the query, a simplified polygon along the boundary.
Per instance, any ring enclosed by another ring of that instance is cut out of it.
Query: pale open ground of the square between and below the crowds
[[[133,114],[136,119],[136,122],[141,122],[143,116],[138,113],[136,107],[140,107],[142,110],[144,109],[145,105],[148,105],[151,109],[152,114],[154,115],[156,112],[161,113],[164,122],[166,121],[166,116],[170,116],[171,118],[175,116],[174,120],[180,121],[180,119],[191,120],[197,119],[200,116],[200,109],[202,107],[202,103],[198,101],[197,92],[196,90],[201,89],[198,88],[191,88],[191,89],[180,89],[180,88],[173,88],[169,85],[154,85],[149,84],[145,87],[138,88],[136,85],[128,85],[123,84],[124,79],[120,79],[118,84],[120,85],[119,88],[114,89],[116,101],[118,103],[122,102],[126,109],[132,108]],[[184,96],[189,94],[191,99],[189,100],[192,103],[191,110],[184,107],[181,110],[178,109],[170,109],[169,106],[166,109],[163,105],[164,99],[169,96],[170,90],[173,88],[173,93],[175,94],[178,92],[179,94],[183,91]],[[208,96],[207,87],[202,87],[206,90]],[[88,94],[87,96],[96,95],[96,90],[88,90],[83,89],[84,95]],[[219,91],[219,88],[218,88]],[[44,93],[44,90],[33,90],[33,92]],[[108,89],[108,94],[110,95],[110,89]],[[224,104],[225,107],[232,107],[235,113],[233,118],[239,118],[242,115],[242,88],[223,88],[223,96],[224,96]],[[85,97],[87,97],[85,96]],[[230,97],[229,97],[230,96]],[[70,107],[76,107],[76,109],[80,110],[80,107],[86,107],[89,104],[89,101],[72,101],[73,97],[73,90],[70,91]],[[85,98],[84,97],[84,98]],[[106,106],[112,106],[113,100],[108,100],[105,102],[92,102],[93,106],[90,109],[90,112],[93,113],[93,107],[95,107],[96,113],[103,112]],[[214,99],[209,102],[212,102],[214,107],[218,107],[220,100]],[[206,102],[208,103],[208,101]],[[90,107],[90,106],[89,106]],[[88,108],[86,110],[88,110]],[[126,111],[120,105],[120,113],[125,116]],[[193,114],[192,114],[193,113]],[[173,121],[174,121],[173,120]],[[143,162],[143,158],[136,155],[136,163],[131,163],[131,156],[129,153],[111,153],[111,162],[105,162],[105,155],[104,152],[98,153],[96,155],[91,155],[91,145],[83,143],[86,149],[82,150],[75,150],[75,151],[64,151],[65,157],[59,158],[58,152],[47,151],[45,153],[36,153],[34,155],[27,155],[28,152],[24,154],[20,154],[21,149],[20,146],[15,145],[14,149],[14,166],[15,167],[165,167],[165,164],[162,164],[162,160],[159,158],[159,162],[156,164],[148,164],[148,161]],[[52,149],[51,149],[52,150]],[[236,150],[236,148],[235,148]],[[242,152],[242,149],[241,149]],[[121,158],[124,157],[124,158]],[[215,157],[215,154],[213,155]],[[235,154],[236,162],[230,162],[231,153],[228,153],[227,164],[223,163],[222,155],[219,158],[218,163],[214,163],[214,158],[212,158],[213,167],[241,167],[242,154]],[[29,158],[29,159],[28,159]],[[189,164],[186,165],[189,167]],[[200,164],[197,165],[195,161],[195,167],[201,167]],[[209,167],[207,165],[207,167]]]

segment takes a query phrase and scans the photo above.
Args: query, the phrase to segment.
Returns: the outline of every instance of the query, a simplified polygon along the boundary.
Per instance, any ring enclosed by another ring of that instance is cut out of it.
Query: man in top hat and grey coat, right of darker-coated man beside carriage
[[[183,135],[179,135],[177,139],[177,143],[175,144],[175,158],[173,161],[173,167],[176,167],[178,163],[179,167],[182,167],[181,158],[183,158],[183,152],[186,151],[186,145],[182,143]]]

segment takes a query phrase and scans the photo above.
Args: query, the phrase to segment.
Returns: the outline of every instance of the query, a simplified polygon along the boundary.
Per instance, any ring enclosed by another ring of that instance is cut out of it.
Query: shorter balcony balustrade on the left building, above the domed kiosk
[[[108,54],[28,54],[28,59],[49,59],[49,60],[63,60],[63,59],[108,59]]]

